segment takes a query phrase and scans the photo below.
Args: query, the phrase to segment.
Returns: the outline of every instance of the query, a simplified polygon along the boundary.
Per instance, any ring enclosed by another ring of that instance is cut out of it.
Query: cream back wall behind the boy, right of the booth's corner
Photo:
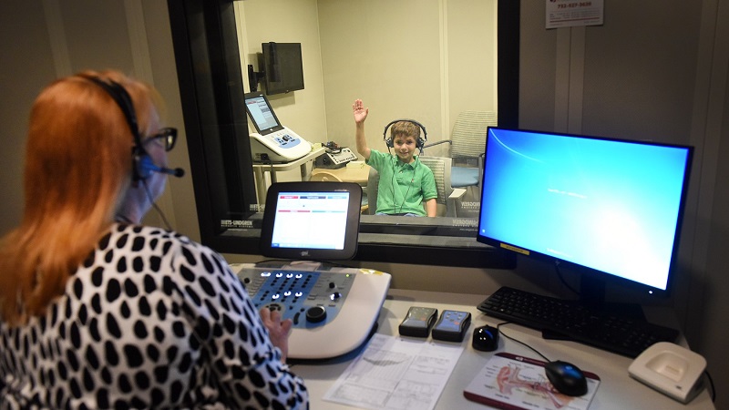
[[[319,0],[327,128],[354,146],[352,102],[370,108],[366,137],[413,118],[447,139],[462,110],[497,109],[496,2]],[[429,152],[429,155],[433,155]]]

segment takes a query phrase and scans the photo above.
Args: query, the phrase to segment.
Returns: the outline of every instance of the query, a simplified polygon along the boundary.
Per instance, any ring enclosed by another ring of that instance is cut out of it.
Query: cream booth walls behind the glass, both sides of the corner
[[[435,142],[448,138],[458,112],[497,109],[494,0],[236,5],[243,68],[257,67],[262,42],[302,43],[305,88],[269,98],[282,123],[311,142],[354,146],[355,98],[371,108],[367,139],[378,149],[395,118],[420,121]]]

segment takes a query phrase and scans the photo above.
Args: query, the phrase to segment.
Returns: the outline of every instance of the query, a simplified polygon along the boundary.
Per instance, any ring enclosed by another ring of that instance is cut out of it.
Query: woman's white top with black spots
[[[0,323],[0,408],[305,408],[241,281],[174,232],[115,225],[44,317]]]

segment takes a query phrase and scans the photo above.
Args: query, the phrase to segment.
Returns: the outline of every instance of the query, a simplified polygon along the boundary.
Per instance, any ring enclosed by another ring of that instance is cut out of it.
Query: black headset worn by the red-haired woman
[[[131,129],[131,135],[134,137],[134,147],[131,149],[131,171],[132,178],[135,181],[148,179],[152,172],[164,171],[164,169],[158,167],[149,157],[149,153],[142,146],[141,134],[139,134],[139,125],[137,124],[137,115],[134,112],[134,105],[129,97],[129,93],[124,87],[113,80],[104,81],[98,77],[86,77],[98,87],[104,88],[107,94],[117,102],[117,105],[124,114],[124,118],[127,118],[129,129]]]

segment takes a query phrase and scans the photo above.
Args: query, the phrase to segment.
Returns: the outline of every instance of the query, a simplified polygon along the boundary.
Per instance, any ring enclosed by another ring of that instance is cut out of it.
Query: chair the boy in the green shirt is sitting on
[[[436,178],[436,190],[438,197],[438,216],[456,217],[460,200],[466,194],[464,189],[454,189],[450,185],[451,159],[447,157],[418,157],[420,161],[433,171]],[[374,168],[370,169],[367,178],[367,200],[370,203],[369,213],[375,215],[377,208],[377,185],[380,181],[380,175]],[[443,211],[445,208],[445,211]]]

